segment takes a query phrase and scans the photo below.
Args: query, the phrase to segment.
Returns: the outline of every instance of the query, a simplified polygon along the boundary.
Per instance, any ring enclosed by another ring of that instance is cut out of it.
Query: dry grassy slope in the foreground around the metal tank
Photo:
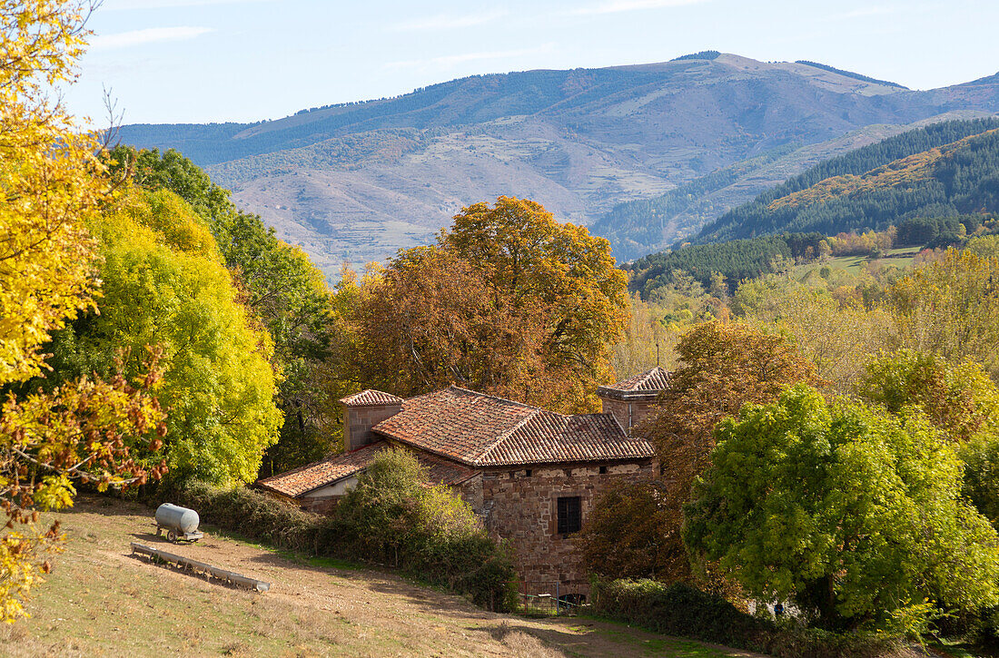
[[[0,628],[0,655],[750,655],[584,617],[494,614],[392,573],[212,532],[172,546],[151,532],[152,510],[135,503],[83,497],[59,517],[67,550],[36,590],[31,618]],[[131,554],[132,541],[267,580],[271,591],[151,564]]]

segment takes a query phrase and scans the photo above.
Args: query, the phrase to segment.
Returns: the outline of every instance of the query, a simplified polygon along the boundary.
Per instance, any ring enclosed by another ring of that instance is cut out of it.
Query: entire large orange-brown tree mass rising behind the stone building
[[[360,350],[388,361],[365,376],[397,381],[390,389],[402,395],[457,382],[559,410],[593,409],[627,319],[625,284],[607,241],[584,228],[526,200],[476,204],[437,245],[402,252],[368,278]],[[385,298],[392,304],[380,305]]]

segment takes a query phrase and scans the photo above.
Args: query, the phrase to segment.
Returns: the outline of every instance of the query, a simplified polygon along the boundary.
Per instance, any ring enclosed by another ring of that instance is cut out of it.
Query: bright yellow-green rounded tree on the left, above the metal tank
[[[203,221],[170,192],[133,193],[93,231],[104,263],[100,314],[60,333],[53,365],[63,377],[111,367],[131,349],[163,349],[157,395],[169,411],[171,476],[252,481],[277,439],[270,336],[246,308]]]

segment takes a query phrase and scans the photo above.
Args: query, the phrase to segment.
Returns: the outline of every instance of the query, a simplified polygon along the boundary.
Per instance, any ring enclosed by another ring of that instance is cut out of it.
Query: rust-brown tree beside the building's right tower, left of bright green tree
[[[679,367],[636,432],[652,441],[663,466],[663,508],[670,518],[658,525],[656,542],[664,553],[660,561],[672,568],[660,577],[689,580],[680,508],[694,478],[710,465],[714,426],[743,404],[771,401],[790,385],[819,379],[815,365],[787,338],[745,325],[704,323],[685,333],[675,350]]]

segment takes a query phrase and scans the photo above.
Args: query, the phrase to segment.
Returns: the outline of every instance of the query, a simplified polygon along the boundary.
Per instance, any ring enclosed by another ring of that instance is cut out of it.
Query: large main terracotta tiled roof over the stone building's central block
[[[609,414],[562,415],[458,386],[411,397],[373,429],[472,466],[652,456]]]

